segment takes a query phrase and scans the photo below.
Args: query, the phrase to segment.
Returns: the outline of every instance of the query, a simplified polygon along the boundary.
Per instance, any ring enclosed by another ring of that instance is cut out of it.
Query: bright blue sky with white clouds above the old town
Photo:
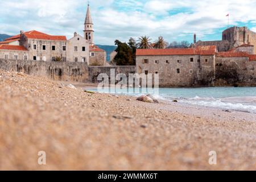
[[[83,34],[86,0],[0,0],[0,34],[38,30],[52,35]],[[218,40],[230,25],[256,31],[256,0],[90,0],[97,44],[147,35],[168,42]]]

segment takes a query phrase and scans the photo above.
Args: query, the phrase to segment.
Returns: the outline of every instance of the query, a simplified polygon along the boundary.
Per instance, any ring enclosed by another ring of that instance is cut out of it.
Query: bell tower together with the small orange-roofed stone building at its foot
[[[92,15],[90,14],[90,6],[87,7],[85,22],[84,22],[84,38],[88,40],[90,65],[105,66],[106,52],[94,44],[94,29]]]

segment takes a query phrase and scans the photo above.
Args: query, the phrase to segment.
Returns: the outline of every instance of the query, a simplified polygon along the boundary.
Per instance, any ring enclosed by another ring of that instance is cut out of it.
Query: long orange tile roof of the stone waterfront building
[[[163,55],[214,55],[216,46],[198,46],[196,48],[172,49],[137,49],[137,56],[163,56]]]

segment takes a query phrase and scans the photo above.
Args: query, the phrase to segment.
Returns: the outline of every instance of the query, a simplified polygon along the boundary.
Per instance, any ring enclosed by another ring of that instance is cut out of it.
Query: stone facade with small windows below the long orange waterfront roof
[[[148,63],[144,63],[144,60],[148,60]],[[211,85],[214,78],[215,56],[137,56],[136,64],[139,74],[158,73],[160,87]]]

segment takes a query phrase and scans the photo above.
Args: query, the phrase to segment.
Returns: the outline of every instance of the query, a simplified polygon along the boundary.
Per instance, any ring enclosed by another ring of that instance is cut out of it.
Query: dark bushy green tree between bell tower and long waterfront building
[[[133,50],[127,43],[122,43],[119,40],[115,40],[115,52],[117,55],[114,57],[114,63],[117,65],[135,65],[133,60]]]

